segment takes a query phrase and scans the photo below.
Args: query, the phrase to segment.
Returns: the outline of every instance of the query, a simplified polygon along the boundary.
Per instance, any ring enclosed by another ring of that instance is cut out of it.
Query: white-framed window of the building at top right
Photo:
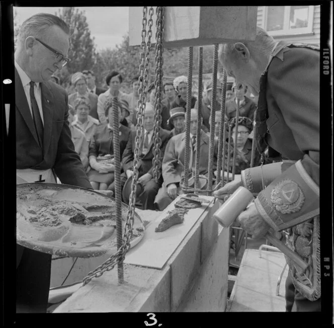
[[[265,30],[272,36],[312,33],[314,6],[268,6]]]

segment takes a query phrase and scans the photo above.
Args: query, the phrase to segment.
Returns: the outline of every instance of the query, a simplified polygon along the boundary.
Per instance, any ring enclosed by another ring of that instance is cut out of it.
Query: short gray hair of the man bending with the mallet
[[[264,29],[257,26],[255,41],[243,41],[242,42],[248,49],[249,54],[257,61],[258,54],[269,56],[273,50],[276,42]],[[232,53],[234,50],[233,43],[225,43],[219,45],[219,58],[225,54]]]

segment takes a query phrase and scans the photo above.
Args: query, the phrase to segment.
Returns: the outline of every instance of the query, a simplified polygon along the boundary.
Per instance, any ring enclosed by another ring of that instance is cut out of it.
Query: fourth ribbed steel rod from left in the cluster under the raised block
[[[222,90],[221,90],[221,99],[220,99],[220,121],[219,121],[219,134],[218,134],[218,153],[217,153],[217,180],[216,184],[220,182],[220,170],[223,167],[224,171],[224,161],[222,162],[222,158],[225,156],[225,99],[226,99],[226,80],[227,75],[225,69],[223,69],[223,82],[222,82]],[[222,177],[224,180],[224,176]]]

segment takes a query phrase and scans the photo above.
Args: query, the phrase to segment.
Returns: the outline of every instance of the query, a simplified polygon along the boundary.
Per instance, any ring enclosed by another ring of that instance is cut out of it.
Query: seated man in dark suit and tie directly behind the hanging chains
[[[158,179],[158,182],[155,182],[153,178],[153,167],[152,159],[153,154],[153,127],[154,127],[154,109],[150,104],[146,104],[144,119],[144,139],[141,147],[141,155],[139,160],[139,179],[138,181],[143,185],[144,191],[139,196],[143,204],[144,210],[155,210],[154,207],[154,198],[157,194],[159,188],[162,184],[162,176]],[[171,138],[171,132],[164,129],[160,129],[160,139],[161,139],[161,158],[164,154],[164,149],[168,140]],[[133,159],[134,159],[134,149],[135,149],[135,138],[136,131],[131,131],[129,141],[126,145],[126,148],[122,157],[122,166],[124,170],[122,187],[124,186],[126,180],[133,175]],[[160,168],[161,172],[161,168]]]

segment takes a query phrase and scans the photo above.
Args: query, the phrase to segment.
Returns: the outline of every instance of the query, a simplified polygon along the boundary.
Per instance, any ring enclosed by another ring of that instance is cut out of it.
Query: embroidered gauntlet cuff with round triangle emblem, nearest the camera
[[[275,231],[287,229],[319,214],[319,187],[299,160],[258,195],[255,205]]]

